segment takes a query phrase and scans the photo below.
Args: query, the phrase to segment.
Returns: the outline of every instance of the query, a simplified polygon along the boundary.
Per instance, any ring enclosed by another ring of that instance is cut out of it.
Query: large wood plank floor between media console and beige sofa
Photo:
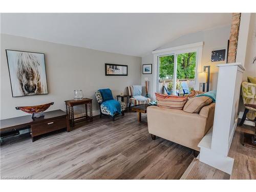
[[[146,114],[142,114],[146,121]],[[29,137],[1,145],[1,176],[32,179],[180,179],[193,150],[158,138],[128,112],[114,122],[96,117],[67,132],[32,143]]]

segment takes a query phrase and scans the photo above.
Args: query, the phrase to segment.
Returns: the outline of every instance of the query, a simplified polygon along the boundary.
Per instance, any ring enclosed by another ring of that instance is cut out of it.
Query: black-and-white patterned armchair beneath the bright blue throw
[[[106,106],[104,106],[104,103],[102,104],[103,99],[102,99],[102,96],[101,96],[101,93],[99,90],[95,92],[95,96],[96,96],[97,102],[99,103],[100,117],[102,116],[102,114],[111,116],[111,112],[106,108]],[[126,108],[126,104],[125,104],[125,102],[122,102],[122,101],[119,101],[119,103],[121,105],[121,112],[122,112],[122,116],[123,116],[125,108]],[[117,115],[118,114],[115,114],[114,116],[112,116],[113,121],[115,121],[115,116],[117,116]]]

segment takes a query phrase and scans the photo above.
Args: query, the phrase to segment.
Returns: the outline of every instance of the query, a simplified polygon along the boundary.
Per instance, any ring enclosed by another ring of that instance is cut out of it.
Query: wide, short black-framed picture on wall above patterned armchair
[[[128,66],[105,63],[105,75],[106,76],[114,76],[114,75],[127,76]]]

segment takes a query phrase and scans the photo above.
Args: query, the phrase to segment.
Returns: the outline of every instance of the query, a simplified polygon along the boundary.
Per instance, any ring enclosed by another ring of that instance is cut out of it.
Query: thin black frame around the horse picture
[[[10,83],[11,83],[11,92],[12,92],[12,97],[24,97],[24,96],[35,96],[35,95],[48,95],[49,94],[49,88],[48,88],[48,81],[47,81],[47,72],[46,72],[46,58],[45,58],[45,53],[39,53],[39,52],[32,52],[32,51],[20,51],[20,50],[12,50],[12,49],[6,49],[6,58],[7,58],[7,66],[8,66],[8,71],[9,71],[9,78],[10,78]],[[42,54],[44,58],[44,68],[45,68],[45,80],[46,80],[46,93],[42,94],[33,94],[33,95],[17,95],[15,96],[13,94],[13,85],[12,85],[12,78],[11,78],[11,71],[10,71],[10,65],[9,65],[9,59],[8,59],[8,51],[16,51],[16,52],[25,52],[25,53],[36,53],[36,54]]]

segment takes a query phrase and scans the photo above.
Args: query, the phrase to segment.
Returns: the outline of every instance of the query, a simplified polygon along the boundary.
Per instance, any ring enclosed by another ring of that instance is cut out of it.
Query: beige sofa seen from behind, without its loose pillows
[[[200,151],[197,146],[214,124],[215,103],[204,106],[200,113],[148,106],[148,132],[155,136]]]

